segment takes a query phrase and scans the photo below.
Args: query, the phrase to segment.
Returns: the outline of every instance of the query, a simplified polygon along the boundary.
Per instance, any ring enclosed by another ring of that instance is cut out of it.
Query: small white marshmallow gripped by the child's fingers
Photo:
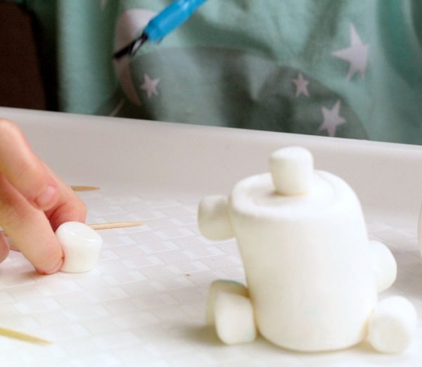
[[[100,254],[102,238],[87,224],[68,221],[56,230],[65,259],[60,271],[84,273],[94,269]]]

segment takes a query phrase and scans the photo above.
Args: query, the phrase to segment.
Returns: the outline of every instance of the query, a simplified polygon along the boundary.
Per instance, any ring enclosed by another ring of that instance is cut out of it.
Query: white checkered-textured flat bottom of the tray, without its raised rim
[[[0,337],[0,366],[421,366],[422,327],[400,355],[378,354],[365,344],[300,354],[262,338],[222,345],[205,326],[207,290],[218,278],[243,281],[243,266],[234,240],[200,236],[197,200],[103,190],[80,195],[89,223],[144,225],[101,231],[103,250],[89,273],[39,276],[13,252],[0,265],[0,326],[53,344]],[[369,232],[392,249],[399,265],[395,285],[381,297],[406,295],[422,316],[416,228],[369,220]]]

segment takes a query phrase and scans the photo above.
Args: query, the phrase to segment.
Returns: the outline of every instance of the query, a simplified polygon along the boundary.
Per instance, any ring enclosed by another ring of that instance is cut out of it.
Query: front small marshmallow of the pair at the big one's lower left
[[[231,292],[219,292],[214,307],[215,330],[225,344],[252,342],[257,328],[250,299]]]

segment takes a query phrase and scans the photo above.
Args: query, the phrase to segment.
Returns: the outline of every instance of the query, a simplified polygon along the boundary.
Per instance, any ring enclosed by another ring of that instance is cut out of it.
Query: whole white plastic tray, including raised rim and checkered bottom
[[[89,222],[145,223],[102,231],[105,245],[90,273],[38,276],[13,252],[0,265],[0,326],[53,345],[0,337],[1,366],[421,366],[421,321],[400,355],[365,344],[319,354],[262,339],[222,345],[205,327],[207,289],[217,278],[243,281],[243,266],[234,240],[205,240],[196,226],[204,195],[267,172],[276,148],[307,146],[318,169],[354,188],[370,237],[394,252],[397,281],[381,297],[406,295],[422,319],[421,147],[8,108],[0,116],[17,122],[68,184],[101,186],[81,193]]]

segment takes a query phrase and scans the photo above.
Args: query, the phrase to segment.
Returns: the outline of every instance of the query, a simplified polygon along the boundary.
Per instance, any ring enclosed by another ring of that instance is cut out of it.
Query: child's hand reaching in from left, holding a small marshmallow
[[[32,152],[20,129],[0,119],[0,226],[39,273],[54,273],[63,264],[54,230],[86,215],[82,200]],[[0,262],[8,252],[1,233]]]

